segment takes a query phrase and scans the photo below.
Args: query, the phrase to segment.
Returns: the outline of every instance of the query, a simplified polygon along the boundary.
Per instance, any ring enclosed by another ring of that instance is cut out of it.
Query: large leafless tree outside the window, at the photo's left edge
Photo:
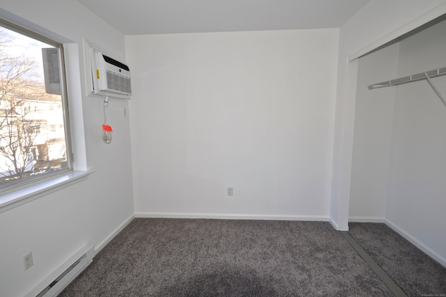
[[[22,179],[33,171],[34,141],[43,120],[29,102],[45,98],[43,83],[38,81],[38,64],[27,56],[8,54],[10,38],[0,29],[0,174]],[[34,148],[34,150],[36,150]]]

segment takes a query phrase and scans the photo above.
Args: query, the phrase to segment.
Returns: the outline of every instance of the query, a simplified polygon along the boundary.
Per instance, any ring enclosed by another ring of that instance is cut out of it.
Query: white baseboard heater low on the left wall
[[[65,289],[86,266],[93,261],[95,248],[85,246],[74,256],[68,259],[54,273],[45,278],[36,288],[26,294],[26,297],[52,297],[57,296]]]

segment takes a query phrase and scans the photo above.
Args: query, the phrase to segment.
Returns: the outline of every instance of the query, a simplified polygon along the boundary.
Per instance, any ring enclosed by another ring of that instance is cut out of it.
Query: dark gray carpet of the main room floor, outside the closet
[[[136,218],[61,296],[392,296],[329,223]]]

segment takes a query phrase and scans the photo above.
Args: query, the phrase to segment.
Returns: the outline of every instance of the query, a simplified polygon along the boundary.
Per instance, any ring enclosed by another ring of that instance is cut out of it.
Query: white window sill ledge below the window
[[[94,170],[72,171],[0,195],[0,213],[86,179]]]

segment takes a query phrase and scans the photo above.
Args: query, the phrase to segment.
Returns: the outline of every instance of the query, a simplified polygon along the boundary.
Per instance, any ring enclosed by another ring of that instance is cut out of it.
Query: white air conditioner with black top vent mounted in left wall
[[[132,87],[127,65],[91,48],[91,74],[95,94],[130,97]]]

